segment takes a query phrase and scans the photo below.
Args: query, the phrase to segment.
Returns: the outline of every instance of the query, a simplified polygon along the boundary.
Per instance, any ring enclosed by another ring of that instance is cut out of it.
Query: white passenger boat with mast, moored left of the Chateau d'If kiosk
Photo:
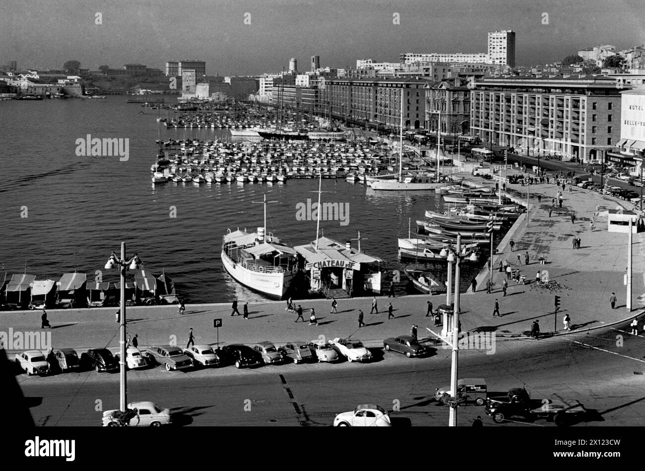
[[[282,299],[293,282],[297,270],[295,249],[282,244],[272,233],[265,234],[266,195],[264,195],[264,227],[257,232],[231,232],[223,237],[222,263],[235,281],[271,298]]]

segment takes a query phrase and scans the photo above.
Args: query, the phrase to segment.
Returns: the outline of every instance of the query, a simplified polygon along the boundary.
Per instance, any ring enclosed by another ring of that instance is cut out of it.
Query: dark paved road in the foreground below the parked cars
[[[557,394],[577,399],[592,409],[589,421],[579,425],[642,425],[645,338],[622,332],[622,326],[617,329],[539,341],[498,341],[490,355],[461,351],[459,377],[486,378],[489,390],[524,384],[533,398]],[[616,345],[619,335],[624,339],[621,347]],[[393,410],[397,401],[400,410],[391,412],[394,425],[446,425],[448,409],[438,405],[432,393],[450,381],[450,350],[439,349],[421,359],[374,352],[377,361],[368,365],[130,372],[129,400],[154,400],[170,407],[180,425],[328,426],[335,414],[358,403]],[[48,378],[23,374],[17,379],[25,396],[37,404],[31,409],[37,425],[99,425],[100,409],[118,407],[118,374],[92,371]],[[487,426],[526,425],[495,425],[483,407],[476,406],[461,407],[458,423],[470,425],[477,415]],[[555,427],[544,420],[531,425]]]

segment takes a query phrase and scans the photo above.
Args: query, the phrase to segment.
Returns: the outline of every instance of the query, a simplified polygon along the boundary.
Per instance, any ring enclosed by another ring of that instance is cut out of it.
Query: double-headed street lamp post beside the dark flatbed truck
[[[442,340],[446,341],[448,345],[452,347],[452,367],[450,370],[450,397],[452,401],[450,402],[450,419],[448,425],[450,427],[457,427],[457,367],[459,364],[459,297],[460,297],[460,280],[459,280],[459,268],[461,267],[461,261],[468,259],[471,262],[477,262],[479,256],[476,253],[472,252],[470,256],[461,255],[461,234],[457,235],[457,250],[452,251],[452,249],[446,249],[445,247],[441,249],[441,256],[446,256],[448,260],[448,294],[446,300],[448,305],[450,305],[450,283],[452,278],[452,264],[455,263],[455,304],[453,307],[453,316],[452,316],[452,341],[448,340],[450,336],[450,331],[448,330],[447,325],[447,315],[444,319],[444,331],[445,334],[441,336]],[[443,333],[443,332],[442,332]]]

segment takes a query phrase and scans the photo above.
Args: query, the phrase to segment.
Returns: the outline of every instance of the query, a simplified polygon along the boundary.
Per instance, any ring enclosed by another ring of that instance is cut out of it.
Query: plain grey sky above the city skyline
[[[97,13],[101,14],[100,23]],[[399,24],[394,14],[399,14]],[[546,15],[545,15],[546,14]],[[245,24],[246,23],[250,24]],[[544,24],[548,23],[548,24]],[[0,64],[97,70],[206,62],[208,75],[398,62],[402,52],[486,52],[513,30],[517,65],[561,61],[598,44],[645,43],[643,0],[2,0]]]

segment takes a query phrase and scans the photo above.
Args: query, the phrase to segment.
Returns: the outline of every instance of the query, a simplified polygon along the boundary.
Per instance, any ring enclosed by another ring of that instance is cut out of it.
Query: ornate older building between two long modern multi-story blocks
[[[455,78],[426,85],[426,128],[442,134],[470,131],[470,79]],[[439,127],[441,122],[441,128]]]

